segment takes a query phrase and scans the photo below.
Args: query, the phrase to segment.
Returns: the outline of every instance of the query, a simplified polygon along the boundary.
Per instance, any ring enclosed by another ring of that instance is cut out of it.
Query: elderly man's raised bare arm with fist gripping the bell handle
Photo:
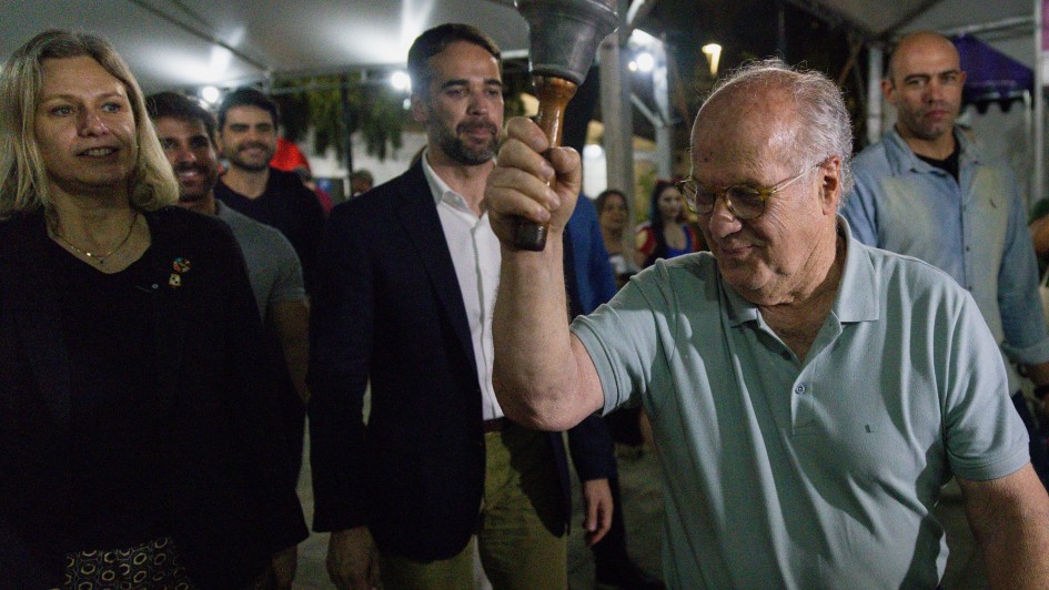
[[[485,190],[503,254],[492,382],[503,411],[514,420],[567,430],[604,405],[597,370],[583,344],[568,333],[566,312],[562,234],[579,194],[579,154],[567,148],[547,152],[546,136],[527,119],[512,120],[507,132]],[[549,223],[546,250],[514,247],[520,217]]]

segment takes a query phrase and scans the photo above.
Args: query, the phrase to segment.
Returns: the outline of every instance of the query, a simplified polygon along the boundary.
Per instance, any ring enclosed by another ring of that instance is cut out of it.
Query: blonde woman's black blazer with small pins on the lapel
[[[229,227],[178,207],[145,218],[168,416],[160,501],[194,581],[239,587],[306,536],[273,366]],[[0,223],[0,586],[12,588],[59,583],[69,515],[70,374],[48,240],[42,214]],[[191,268],[172,287],[179,257]]]

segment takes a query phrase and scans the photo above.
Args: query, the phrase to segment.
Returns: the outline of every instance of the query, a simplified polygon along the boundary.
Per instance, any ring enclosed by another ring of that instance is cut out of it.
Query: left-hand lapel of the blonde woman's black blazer
[[[4,275],[18,277],[6,282],[11,293],[14,322],[26,356],[54,419],[69,426],[72,390],[69,376],[69,355],[62,336],[58,294],[42,264],[47,253],[48,234],[43,214],[31,214],[12,221]]]

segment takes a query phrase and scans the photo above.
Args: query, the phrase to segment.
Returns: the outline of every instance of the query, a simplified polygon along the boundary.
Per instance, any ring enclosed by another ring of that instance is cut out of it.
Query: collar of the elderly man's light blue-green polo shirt
[[[831,314],[843,324],[878,319],[880,299],[877,276],[867,250],[853,238],[853,231],[845,217],[838,215],[838,232],[845,236],[845,269],[841,284],[835,295]],[[718,275],[718,283],[728,303],[729,325],[737,327],[758,319],[758,308],[743,298]]]

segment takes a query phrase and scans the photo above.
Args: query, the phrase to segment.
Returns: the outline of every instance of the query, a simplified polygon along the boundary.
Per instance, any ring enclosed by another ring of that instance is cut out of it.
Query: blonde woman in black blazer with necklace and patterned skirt
[[[305,537],[248,276],[105,41],[0,72],[0,572],[11,588],[290,586]],[[270,581],[266,581],[266,577]]]

